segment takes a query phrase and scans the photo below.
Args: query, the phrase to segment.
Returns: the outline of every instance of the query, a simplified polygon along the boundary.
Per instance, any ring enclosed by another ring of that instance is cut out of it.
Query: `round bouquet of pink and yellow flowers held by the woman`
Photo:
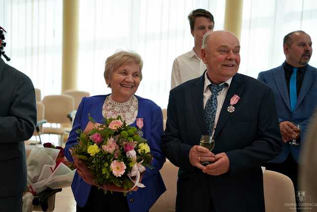
[[[104,124],[91,117],[89,120],[85,131],[77,131],[79,143],[72,149],[72,155],[87,167],[94,184],[106,190],[112,190],[113,185],[124,191],[145,187],[139,180],[145,167],[152,168],[153,159],[147,140],[120,116],[105,119]],[[143,124],[143,119],[137,121]]]

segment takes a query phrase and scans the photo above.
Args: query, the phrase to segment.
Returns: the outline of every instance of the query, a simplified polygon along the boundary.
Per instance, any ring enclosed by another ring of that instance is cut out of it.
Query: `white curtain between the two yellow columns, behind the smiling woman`
[[[172,63],[194,46],[187,15],[197,8],[209,10],[215,29],[223,28],[224,0],[81,0],[78,88],[110,93],[106,58],[117,49],[133,50],[144,60],[136,94],[166,108]]]

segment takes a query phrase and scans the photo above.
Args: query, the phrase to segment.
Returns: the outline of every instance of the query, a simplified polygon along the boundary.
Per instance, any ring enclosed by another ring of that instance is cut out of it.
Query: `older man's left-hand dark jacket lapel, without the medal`
[[[205,72],[200,78],[193,82],[193,89],[191,90],[193,110],[203,134],[207,133],[204,110]]]

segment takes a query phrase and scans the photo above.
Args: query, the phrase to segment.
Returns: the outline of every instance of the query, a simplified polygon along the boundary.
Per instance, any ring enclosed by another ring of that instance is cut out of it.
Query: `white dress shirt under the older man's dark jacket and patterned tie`
[[[227,81],[224,81],[221,84],[219,84],[219,85],[222,85],[223,83],[227,83],[228,86],[222,88],[222,90],[217,95],[217,111],[216,111],[216,115],[215,115],[215,118],[214,118],[214,125],[213,125],[214,129],[217,126],[219,114],[220,114],[224,99],[225,99],[225,97],[227,95],[228,89],[230,87],[231,80],[232,80],[232,77],[230,79],[228,79]],[[206,107],[208,99],[211,97],[211,90],[208,87],[208,85],[210,85],[210,84],[211,84],[211,81],[208,79],[207,71],[206,71],[206,73],[205,73],[205,83],[204,83],[204,109]],[[212,135],[213,135],[213,133],[214,133],[214,130],[212,132]]]

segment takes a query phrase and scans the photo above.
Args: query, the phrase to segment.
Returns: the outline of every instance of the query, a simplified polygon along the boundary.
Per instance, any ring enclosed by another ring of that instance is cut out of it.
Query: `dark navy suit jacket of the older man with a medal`
[[[235,74],[225,97],[216,130],[217,154],[229,157],[230,171],[211,176],[193,167],[189,151],[207,133],[203,92],[205,75],[172,89],[167,107],[162,150],[180,167],[177,181],[177,212],[208,212],[212,199],[219,212],[264,212],[261,164],[281,150],[274,97],[269,86]],[[230,98],[241,97],[229,113]]]

